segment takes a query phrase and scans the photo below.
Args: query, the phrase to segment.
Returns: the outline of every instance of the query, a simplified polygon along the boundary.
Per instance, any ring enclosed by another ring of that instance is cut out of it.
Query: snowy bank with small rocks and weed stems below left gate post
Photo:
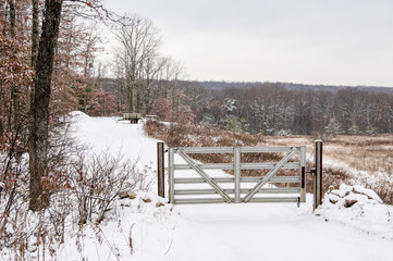
[[[106,220],[99,228],[87,224],[82,235],[70,235],[57,259],[162,260],[177,225],[172,206],[152,192],[136,191],[118,200],[114,211],[115,219]]]

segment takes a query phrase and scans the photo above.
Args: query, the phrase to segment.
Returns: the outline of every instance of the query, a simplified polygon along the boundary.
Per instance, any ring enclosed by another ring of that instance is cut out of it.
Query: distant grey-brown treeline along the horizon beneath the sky
[[[195,121],[265,135],[393,133],[393,88],[183,82]]]

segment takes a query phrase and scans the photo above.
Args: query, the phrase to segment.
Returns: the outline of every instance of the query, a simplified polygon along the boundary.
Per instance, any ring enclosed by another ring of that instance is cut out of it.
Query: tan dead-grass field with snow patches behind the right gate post
[[[265,137],[263,145],[294,144],[306,145],[307,154],[312,156],[311,136],[270,136]],[[323,189],[331,185],[337,188],[342,183],[360,184],[393,204],[393,135],[336,136],[323,140]]]

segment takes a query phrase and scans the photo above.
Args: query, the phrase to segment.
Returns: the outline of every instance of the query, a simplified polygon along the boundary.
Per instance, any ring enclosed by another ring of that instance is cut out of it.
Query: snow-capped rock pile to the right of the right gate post
[[[393,239],[393,207],[382,204],[382,200],[372,189],[359,185],[342,184],[340,189],[328,191],[315,214],[326,221]]]

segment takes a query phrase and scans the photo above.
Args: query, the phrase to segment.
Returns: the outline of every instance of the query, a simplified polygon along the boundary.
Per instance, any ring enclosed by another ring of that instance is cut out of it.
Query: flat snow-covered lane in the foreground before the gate
[[[175,209],[187,220],[174,239],[175,260],[392,260],[391,240],[326,222],[310,214],[309,204]],[[187,249],[186,256],[181,249]]]

